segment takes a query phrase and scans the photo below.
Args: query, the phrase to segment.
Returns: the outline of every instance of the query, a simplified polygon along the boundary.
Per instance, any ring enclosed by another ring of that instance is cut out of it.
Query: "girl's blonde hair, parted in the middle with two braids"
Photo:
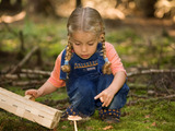
[[[65,57],[65,66],[61,67],[63,72],[70,72],[69,61],[72,56],[72,45],[70,43],[69,36],[75,31],[91,32],[96,36],[101,37],[101,43],[103,44],[103,57],[105,64],[103,66],[103,73],[110,74],[110,62],[106,57],[105,48],[105,27],[101,14],[92,8],[77,8],[70,15],[67,24],[68,29],[68,45],[67,52]]]

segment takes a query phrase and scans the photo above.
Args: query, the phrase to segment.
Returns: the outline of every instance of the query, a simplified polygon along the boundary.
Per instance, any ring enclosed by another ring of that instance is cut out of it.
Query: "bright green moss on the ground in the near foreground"
[[[20,87],[9,87],[8,90],[16,93],[23,94]],[[145,91],[137,92],[139,95],[144,95]],[[62,99],[67,97],[66,88],[59,88],[57,92],[47,95],[45,97],[37,98],[38,102],[43,102],[45,99]],[[129,100],[129,99],[128,99]],[[125,116],[124,116],[125,115]],[[46,128],[38,126],[37,123],[31,122],[28,120],[16,117],[12,114],[9,114],[4,110],[0,110],[0,129],[1,131],[15,131],[21,130],[24,131],[30,129],[32,131],[43,130],[47,131]],[[167,100],[140,100],[135,106],[125,106],[121,109],[121,119],[119,123],[105,123],[98,118],[97,110],[91,117],[89,121],[80,121],[78,122],[78,128],[80,131],[92,130],[100,131],[107,126],[112,126],[112,131],[164,131],[170,130],[173,131],[174,126],[174,116],[175,116],[175,102]],[[155,122],[155,124],[154,124]],[[70,131],[73,130],[73,123],[70,121],[60,121],[58,130]]]

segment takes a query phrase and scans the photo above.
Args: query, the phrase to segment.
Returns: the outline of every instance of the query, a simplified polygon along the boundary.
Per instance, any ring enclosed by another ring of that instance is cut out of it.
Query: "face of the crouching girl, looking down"
[[[89,59],[96,51],[98,40],[94,33],[83,31],[74,32],[70,36],[74,52],[82,59]]]

